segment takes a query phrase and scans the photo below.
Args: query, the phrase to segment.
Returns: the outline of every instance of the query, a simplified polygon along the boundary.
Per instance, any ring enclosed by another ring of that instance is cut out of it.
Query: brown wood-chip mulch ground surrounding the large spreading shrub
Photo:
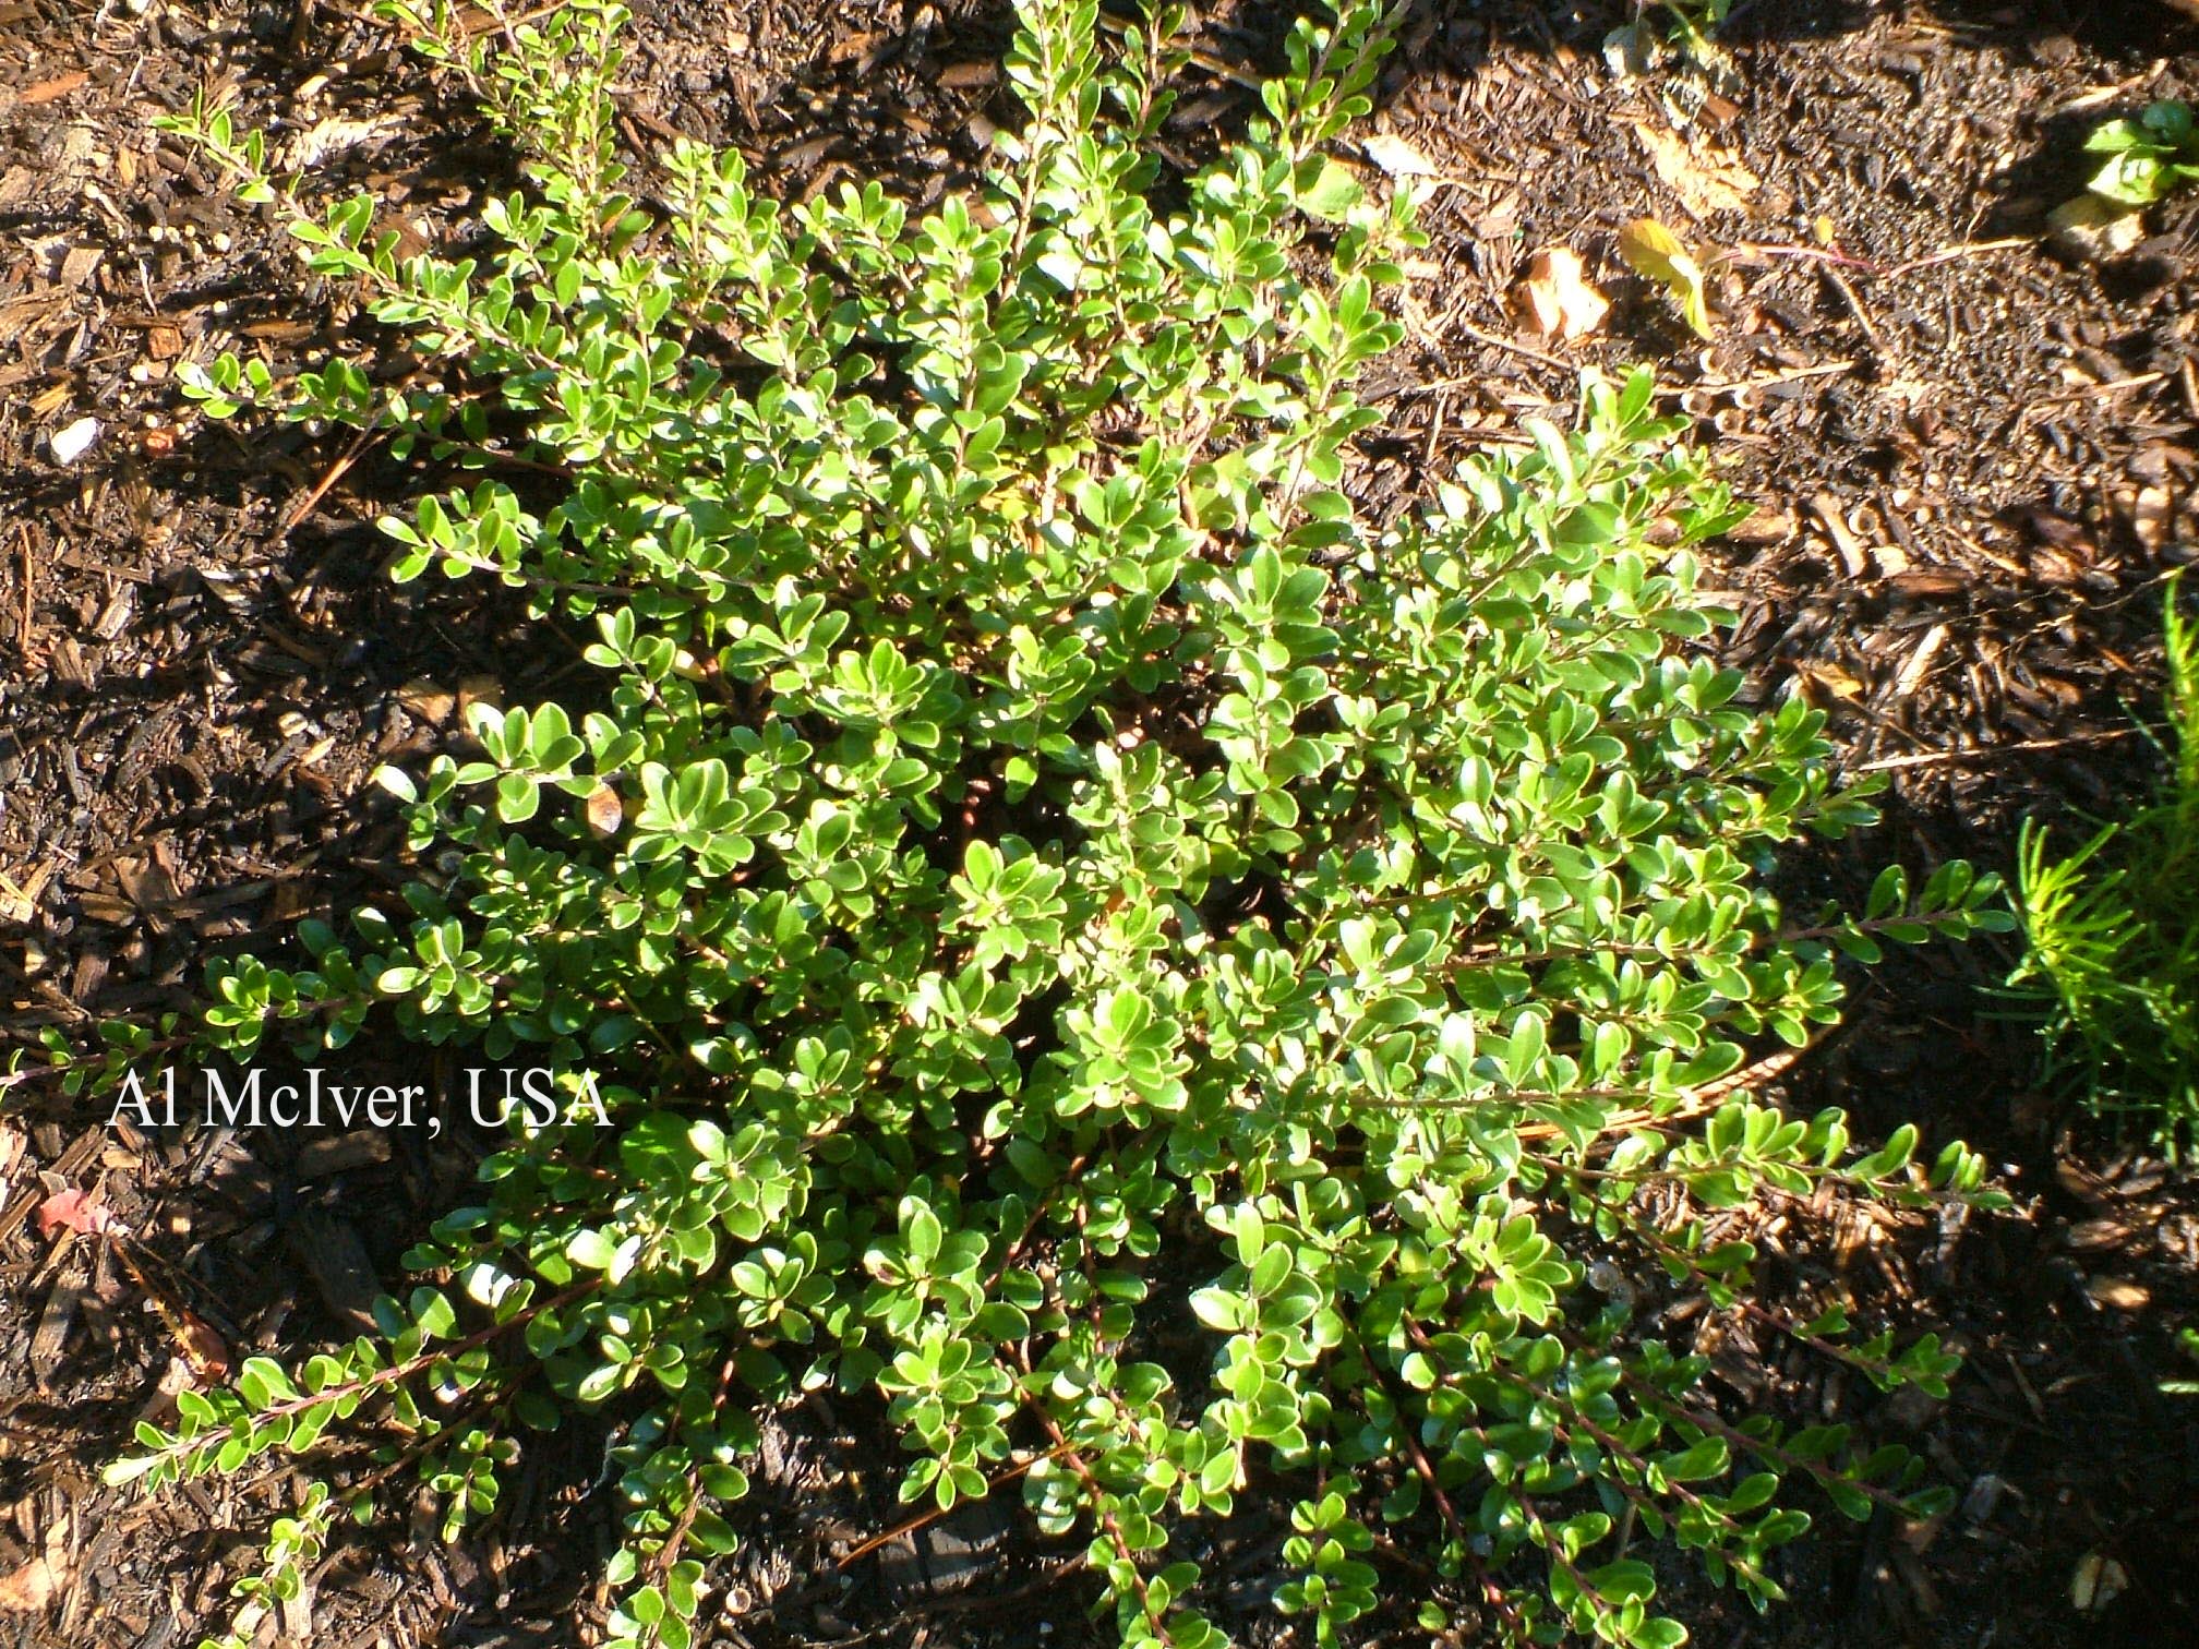
[[[884,174],[937,198],[1014,117],[990,70],[996,11],[638,9],[629,143],[732,141],[789,196]],[[1759,695],[1799,679],[1849,765],[1898,787],[1889,827],[1801,866],[1801,893],[1854,893],[1889,853],[2005,862],[2027,814],[2113,809],[2144,772],[2120,734],[2124,701],[2151,690],[2155,583],[2199,541],[2199,207],[2155,213],[2111,266],[2030,237],[2080,185],[2096,119],[2190,90],[2199,35],[2157,0],[1764,2],[1728,29],[1737,84],[1704,97],[1680,68],[1616,79],[1601,42],[1618,13],[1522,0],[1407,18],[1370,132],[1427,161],[1434,244],[1412,339],[1370,385],[1390,418],[1363,442],[1361,490],[1403,503],[1476,442],[1561,416],[1574,367],[1654,361],[1764,503],[1724,552],[1744,609],[1731,657]],[[303,279],[262,215],[147,125],[200,84],[235,88],[246,123],[317,156],[314,193],[367,187],[389,226],[435,242],[508,163],[455,88],[387,46],[330,0],[0,0],[0,1038],[180,1007],[209,948],[277,943],[303,915],[385,895],[407,866],[365,774],[440,741],[460,695],[539,695],[574,666],[515,644],[517,616],[473,587],[378,576],[365,523],[420,477],[347,440],[198,424],[169,385],[222,347],[284,372],[365,345],[405,369],[352,295]],[[1201,46],[1271,64],[1273,18],[1216,7]],[[1192,152],[1249,108],[1205,75],[1172,141]],[[1673,145],[1678,187],[1656,167]],[[1643,213],[1739,248],[1715,345],[1618,266],[1614,231]],[[1550,244],[1616,299],[1579,345],[1522,345],[1509,308]],[[57,466],[51,438],[86,416],[92,449]],[[1935,1530],[1823,1524],[1788,1557],[1794,1603],[1766,1618],[1684,1590],[1700,1642],[2190,1640],[2199,1403],[2153,1385],[2199,1313],[2199,1189],[2030,1091],[2025,1033],[1979,996],[2005,963],[1994,945],[1891,963],[1792,1097],[1968,1137],[2019,1211],[1940,1229],[1775,1209],[1783,1225],[1759,1231],[1794,1297],[1849,1288],[1863,1315],[1962,1335],[1955,1401],[1882,1405],[1746,1324],[1673,1321],[1717,1352],[1737,1405],[1909,1440],[1964,1508]],[[420,1080],[418,1055],[387,1058]],[[165,1506],[97,1484],[176,1341],[112,1247],[42,1240],[31,1209],[95,1189],[229,1348],[295,1350],[398,1280],[464,1146],[143,1141],[33,1086],[7,1110],[0,1642],[196,1642],[290,1482],[207,1482]],[[891,1458],[866,1414],[772,1429],[723,1642],[1086,1636],[1069,1559],[985,1519],[836,1572],[897,1517]],[[576,1552],[611,1515],[600,1469],[603,1438],[567,1431],[457,1548],[424,1521],[409,1543],[341,1543],[290,1625],[361,1649],[576,1640]],[[1205,1554],[1256,1642],[1275,1638],[1258,1605],[1280,1537],[1240,1517]],[[44,1598],[40,1557],[59,1576]],[[2091,1614],[2069,1598],[2087,1557],[2126,1576]],[[1377,1620],[1412,1640],[1401,1625]]]

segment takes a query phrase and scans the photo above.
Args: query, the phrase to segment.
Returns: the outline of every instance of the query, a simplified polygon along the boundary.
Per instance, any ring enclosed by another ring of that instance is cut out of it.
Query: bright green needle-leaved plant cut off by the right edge
[[[2199,624],[2168,585],[2168,776],[2074,853],[2025,824],[2023,959],[2012,985],[2045,1016],[2047,1082],[2170,1152],[2199,1132]]]

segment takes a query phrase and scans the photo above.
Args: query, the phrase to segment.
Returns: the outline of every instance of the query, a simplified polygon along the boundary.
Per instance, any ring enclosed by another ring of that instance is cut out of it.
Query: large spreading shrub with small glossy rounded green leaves
[[[1638,1539],[1761,1603],[1808,1524],[1783,1478],[1929,1499],[1900,1449],[1720,1414],[1647,1304],[1942,1390],[1929,1335],[1742,1299],[1706,1216],[1979,1194],[1964,1150],[1858,1152],[1744,1066],[1834,1020],[1841,952],[2005,912],[1959,864],[1860,917],[1766,893],[1871,814],[1816,712],[1695,646],[1691,545],[1735,510],[1645,376],[1390,528],[1352,501],[1414,244],[1324,156],[1379,7],[1300,24],[1249,134],[1161,178],[1181,20],[1102,53],[1093,4],[1025,0],[1023,125],[921,220],[877,185],[783,209],[695,145],[622,193],[620,20],[488,53],[411,15],[530,189],[484,259],[400,257],[365,200],[297,233],[429,367],[194,380],[479,471],[385,523],[396,576],[521,587],[600,673],[385,774],[440,873],[301,967],[220,967],[202,1040],[394,1025],[561,1069],[567,1113],[512,1117],[380,1337],[185,1392],[114,1475],[389,1425],[455,1532],[530,1429],[614,1412],[605,1634],[675,1649],[752,1416],[805,1390],[875,1394],[906,1499],[1080,1532],[1121,1640],[1181,1649],[1220,1634],[1172,1539],[1245,1495],[1291,1504],[1275,1605],[1322,1642],[1407,1594],[1432,1631],[1643,1647],[1684,1629]],[[183,125],[281,198],[226,114]]]

